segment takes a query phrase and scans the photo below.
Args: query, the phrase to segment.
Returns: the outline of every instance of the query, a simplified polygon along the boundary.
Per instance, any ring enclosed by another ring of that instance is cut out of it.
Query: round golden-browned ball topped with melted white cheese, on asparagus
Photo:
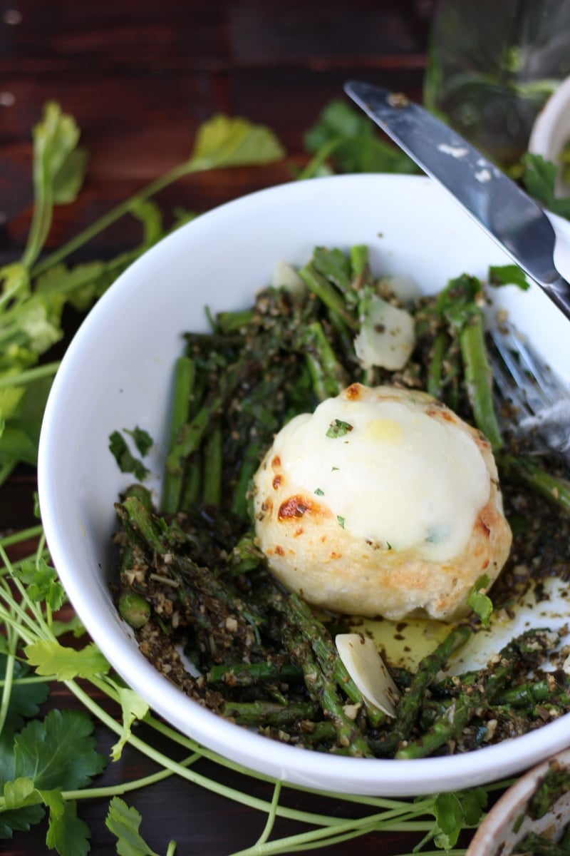
[[[353,383],[279,431],[254,479],[273,574],[351,615],[467,611],[511,532],[490,444],[431,395]]]

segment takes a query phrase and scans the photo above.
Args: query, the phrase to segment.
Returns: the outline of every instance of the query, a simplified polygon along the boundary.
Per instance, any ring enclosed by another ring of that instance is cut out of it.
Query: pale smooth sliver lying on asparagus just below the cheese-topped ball
[[[338,656],[367,704],[374,704],[387,716],[396,716],[400,693],[372,639],[361,633],[338,633]]]

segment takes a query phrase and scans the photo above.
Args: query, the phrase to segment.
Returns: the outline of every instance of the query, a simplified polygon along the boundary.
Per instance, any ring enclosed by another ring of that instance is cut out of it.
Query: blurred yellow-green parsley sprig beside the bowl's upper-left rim
[[[44,116],[33,129],[34,205],[26,247],[21,259],[0,267],[0,484],[17,464],[36,464],[45,401],[59,366],[58,360],[41,365],[39,360],[63,337],[64,306],[88,309],[134,259],[195,216],[177,211],[167,228],[151,197],[185,175],[271,163],[285,154],[269,128],[242,118],[214,116],[198,128],[191,155],[183,163],[41,257],[54,211],[77,199],[83,185],[87,155],[79,136],[73,117],[59,104],[45,105]],[[115,259],[68,265],[72,253],[127,215],[143,227],[136,247]]]

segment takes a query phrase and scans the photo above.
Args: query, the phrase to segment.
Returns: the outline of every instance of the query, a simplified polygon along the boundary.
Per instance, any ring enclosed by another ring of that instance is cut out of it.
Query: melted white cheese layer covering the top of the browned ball
[[[292,419],[273,451],[292,489],[319,491],[346,532],[445,562],[465,549],[491,479],[472,437],[428,415],[423,403],[383,388],[358,401],[328,399]],[[327,437],[337,420],[350,430]]]

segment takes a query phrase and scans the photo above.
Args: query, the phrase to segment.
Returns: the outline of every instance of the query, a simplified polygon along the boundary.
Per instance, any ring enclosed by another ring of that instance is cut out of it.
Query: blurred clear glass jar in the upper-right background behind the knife
[[[509,169],[570,74],[570,0],[439,0],[424,103]]]

